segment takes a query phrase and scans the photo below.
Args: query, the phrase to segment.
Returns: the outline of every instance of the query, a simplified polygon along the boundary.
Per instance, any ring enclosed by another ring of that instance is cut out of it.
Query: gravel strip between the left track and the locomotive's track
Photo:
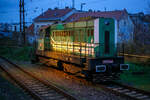
[[[45,67],[40,64],[30,64],[28,62],[17,62],[20,66],[31,71],[38,77],[52,82],[54,85],[80,98],[80,100],[129,100],[124,97],[103,91],[101,88],[83,83],[73,79],[69,75],[56,69]]]

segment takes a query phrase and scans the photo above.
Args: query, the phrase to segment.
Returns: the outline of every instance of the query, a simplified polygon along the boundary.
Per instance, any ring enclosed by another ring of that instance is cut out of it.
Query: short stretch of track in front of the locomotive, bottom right
[[[150,92],[133,88],[116,82],[110,82],[107,85],[97,85],[106,91],[130,98],[131,100],[150,100]]]

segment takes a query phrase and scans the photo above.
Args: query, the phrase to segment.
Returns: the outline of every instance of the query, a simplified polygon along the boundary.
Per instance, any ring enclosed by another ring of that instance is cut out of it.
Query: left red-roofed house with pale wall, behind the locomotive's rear
[[[45,25],[62,23],[76,12],[77,11],[75,9],[70,9],[68,7],[66,7],[65,9],[48,9],[34,19],[34,32],[37,33],[40,27]]]

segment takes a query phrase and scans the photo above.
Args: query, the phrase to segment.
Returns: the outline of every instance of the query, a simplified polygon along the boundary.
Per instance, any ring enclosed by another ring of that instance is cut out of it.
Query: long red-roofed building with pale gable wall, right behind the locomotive
[[[84,19],[97,17],[113,18],[117,21],[117,34],[118,42],[127,42],[133,40],[134,24],[128,15],[126,9],[116,11],[89,11],[89,12],[78,12],[70,16],[66,22],[79,21]]]

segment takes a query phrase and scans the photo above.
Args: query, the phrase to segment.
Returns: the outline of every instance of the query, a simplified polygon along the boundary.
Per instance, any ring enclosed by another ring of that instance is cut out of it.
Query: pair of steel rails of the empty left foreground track
[[[36,77],[35,75],[25,71],[24,69],[22,69],[21,67],[19,67],[18,65],[12,63],[11,61],[9,61],[8,59],[4,58],[4,57],[0,57],[1,59],[7,61],[7,63],[11,64],[12,66],[14,66],[15,68],[19,69],[20,71],[22,71],[23,73],[25,73],[26,75],[29,75],[30,77],[34,78],[35,80],[38,80],[38,82],[41,82],[44,86],[46,87],[50,87],[52,88],[54,91],[56,91],[58,94],[61,94],[63,95],[67,100],[78,100],[79,98],[77,97],[74,97],[73,95],[65,92],[64,90],[54,86],[52,83],[46,81],[46,80],[43,80],[43,79],[40,79],[38,77]],[[40,95],[38,95],[38,93],[35,93],[34,90],[31,89],[31,87],[27,86],[26,84],[24,84],[22,81],[16,79],[15,76],[12,75],[11,72],[8,71],[7,68],[4,68],[4,65],[1,66],[2,69],[16,82],[18,83],[18,85],[20,85],[23,89],[25,89],[27,92],[29,92],[29,94],[31,94],[31,96],[33,98],[35,98],[36,100],[44,100]],[[37,82],[37,83],[38,83]],[[29,82],[31,83],[31,82]],[[35,85],[35,84],[34,84]],[[41,87],[40,87],[41,88]],[[44,92],[44,91],[43,91]],[[65,100],[66,100],[65,99]],[[57,99],[59,100],[59,99]],[[61,99],[60,99],[61,100]]]

